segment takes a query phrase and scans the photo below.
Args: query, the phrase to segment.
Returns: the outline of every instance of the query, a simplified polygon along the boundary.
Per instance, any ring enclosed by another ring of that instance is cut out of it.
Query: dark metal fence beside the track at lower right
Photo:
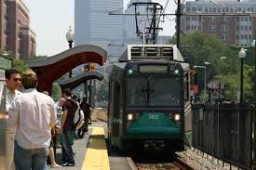
[[[252,112],[249,104],[195,104],[192,145],[242,169],[252,164]]]

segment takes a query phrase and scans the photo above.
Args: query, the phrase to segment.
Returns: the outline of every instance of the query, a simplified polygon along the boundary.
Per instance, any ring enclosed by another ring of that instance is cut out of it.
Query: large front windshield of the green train
[[[130,107],[180,106],[181,87],[180,77],[128,77],[127,105]]]

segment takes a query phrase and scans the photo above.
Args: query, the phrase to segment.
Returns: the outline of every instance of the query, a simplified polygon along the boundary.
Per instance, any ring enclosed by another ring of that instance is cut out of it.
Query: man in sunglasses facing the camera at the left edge
[[[15,69],[8,69],[5,72],[7,93],[6,93],[6,111],[8,113],[13,98],[20,95],[20,91],[17,89],[21,85],[20,72]],[[7,170],[15,170],[14,165],[14,137],[16,126],[6,128],[7,140],[6,140],[6,168]]]

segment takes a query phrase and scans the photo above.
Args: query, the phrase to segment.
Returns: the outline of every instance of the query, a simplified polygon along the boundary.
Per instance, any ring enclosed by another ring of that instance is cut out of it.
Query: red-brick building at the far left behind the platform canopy
[[[35,54],[35,33],[30,29],[29,9],[22,0],[0,0],[0,49],[15,59]]]

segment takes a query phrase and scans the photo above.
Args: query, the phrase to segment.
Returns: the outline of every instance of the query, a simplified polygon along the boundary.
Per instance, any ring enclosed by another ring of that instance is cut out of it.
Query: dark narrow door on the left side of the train
[[[114,146],[118,146],[118,137],[119,137],[119,124],[120,124],[120,85],[118,82],[115,82],[114,85],[114,97],[113,97],[113,144]]]

